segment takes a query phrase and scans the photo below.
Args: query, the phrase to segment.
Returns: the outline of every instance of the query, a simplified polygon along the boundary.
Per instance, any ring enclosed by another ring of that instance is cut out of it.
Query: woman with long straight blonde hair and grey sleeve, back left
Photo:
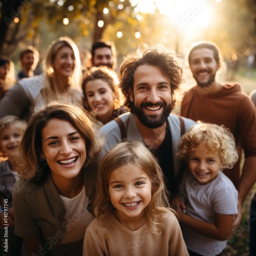
[[[73,40],[60,37],[52,42],[44,70],[44,75],[21,79],[8,91],[0,103],[0,118],[29,118],[34,110],[53,100],[81,103],[81,63]]]

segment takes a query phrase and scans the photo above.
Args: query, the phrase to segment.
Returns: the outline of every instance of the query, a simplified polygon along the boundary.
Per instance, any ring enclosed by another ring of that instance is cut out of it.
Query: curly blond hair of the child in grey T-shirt
[[[232,168],[238,160],[236,142],[224,125],[199,122],[191,126],[179,142],[178,157],[187,161],[199,144],[203,144],[207,152],[219,153],[221,169]]]

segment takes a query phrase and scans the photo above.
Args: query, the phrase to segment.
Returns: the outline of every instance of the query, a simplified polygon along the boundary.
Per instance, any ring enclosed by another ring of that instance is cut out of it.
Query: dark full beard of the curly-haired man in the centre
[[[148,115],[143,111],[144,106],[162,106],[163,112],[161,116],[158,115]],[[167,120],[170,111],[172,110],[172,103],[166,104],[165,102],[157,102],[155,104],[151,102],[142,102],[140,106],[134,106],[134,113],[138,117],[139,121],[150,129],[155,129],[161,127]]]

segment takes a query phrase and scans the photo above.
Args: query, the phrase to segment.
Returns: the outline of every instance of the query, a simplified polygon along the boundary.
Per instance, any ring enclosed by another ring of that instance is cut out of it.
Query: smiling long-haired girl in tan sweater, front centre
[[[140,142],[119,143],[102,159],[94,211],[84,256],[188,255],[162,171]]]

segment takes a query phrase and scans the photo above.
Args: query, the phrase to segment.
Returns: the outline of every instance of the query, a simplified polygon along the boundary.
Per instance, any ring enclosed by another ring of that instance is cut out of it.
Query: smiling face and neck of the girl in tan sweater
[[[129,164],[115,169],[110,175],[109,195],[117,219],[122,224],[132,220],[144,223],[151,191],[151,181],[140,167]]]

